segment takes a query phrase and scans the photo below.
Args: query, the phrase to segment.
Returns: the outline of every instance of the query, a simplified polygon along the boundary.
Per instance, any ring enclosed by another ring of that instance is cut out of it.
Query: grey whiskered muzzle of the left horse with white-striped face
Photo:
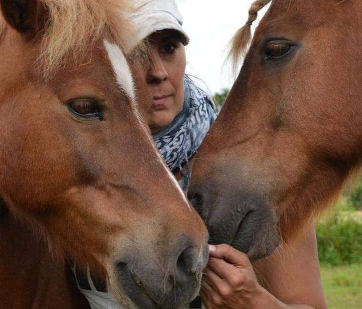
[[[114,264],[111,288],[115,290],[116,285],[116,290],[123,291],[135,308],[179,308],[199,293],[208,255],[206,242],[198,248],[186,236],[170,248],[168,257],[158,261],[150,258],[155,256],[152,252],[147,256],[128,253]]]

